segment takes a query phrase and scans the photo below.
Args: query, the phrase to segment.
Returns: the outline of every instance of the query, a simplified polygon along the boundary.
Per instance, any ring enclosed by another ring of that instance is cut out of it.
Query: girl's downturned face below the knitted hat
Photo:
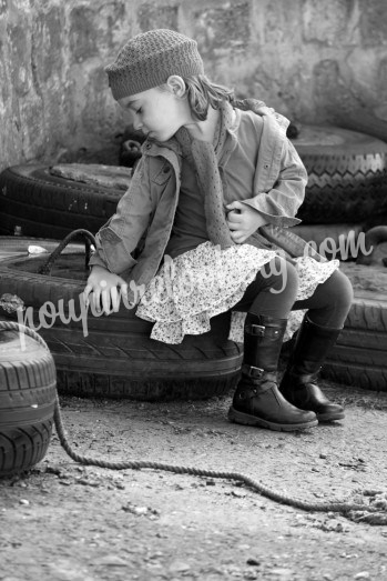
[[[186,99],[169,87],[123,97],[119,103],[130,111],[133,128],[155,141],[167,141],[182,126],[192,123]]]

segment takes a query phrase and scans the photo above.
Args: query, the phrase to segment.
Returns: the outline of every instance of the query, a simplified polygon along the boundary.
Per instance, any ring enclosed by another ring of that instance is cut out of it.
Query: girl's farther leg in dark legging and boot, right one
[[[332,403],[316,384],[316,375],[344,327],[353,295],[349,280],[336,270],[317,287],[313,297],[294,305],[295,310],[308,311],[297,332],[279,390],[294,405],[313,410],[319,421],[344,418],[342,405]]]

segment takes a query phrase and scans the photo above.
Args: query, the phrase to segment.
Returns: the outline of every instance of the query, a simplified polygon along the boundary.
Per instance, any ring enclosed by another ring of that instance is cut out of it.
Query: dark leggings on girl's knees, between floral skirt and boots
[[[339,270],[318,284],[308,299],[296,301],[298,274],[295,267],[276,257],[265,264],[233,310],[287,319],[291,311],[307,309],[309,319],[320,325],[342,329],[354,298],[352,284]]]

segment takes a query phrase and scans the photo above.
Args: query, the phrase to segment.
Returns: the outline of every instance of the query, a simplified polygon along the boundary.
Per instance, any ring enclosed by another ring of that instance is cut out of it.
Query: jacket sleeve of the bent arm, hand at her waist
[[[264,161],[261,168],[259,163],[257,167],[257,171],[267,172],[268,188],[264,191],[259,188],[259,193],[243,200],[243,203],[261,212],[272,224],[295,226],[301,222],[295,214],[304,201],[307,172],[296,149],[286,137],[282,140],[277,159],[275,158],[276,156],[271,164]],[[259,181],[262,183],[258,178],[257,183]]]

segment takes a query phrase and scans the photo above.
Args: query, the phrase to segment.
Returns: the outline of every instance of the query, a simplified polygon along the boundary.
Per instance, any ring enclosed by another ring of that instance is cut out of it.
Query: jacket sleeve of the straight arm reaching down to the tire
[[[96,233],[96,249],[90,266],[98,264],[121,274],[136,263],[132,253],[146,231],[153,212],[145,164],[141,159],[129,190],[118,203],[115,214]]]

